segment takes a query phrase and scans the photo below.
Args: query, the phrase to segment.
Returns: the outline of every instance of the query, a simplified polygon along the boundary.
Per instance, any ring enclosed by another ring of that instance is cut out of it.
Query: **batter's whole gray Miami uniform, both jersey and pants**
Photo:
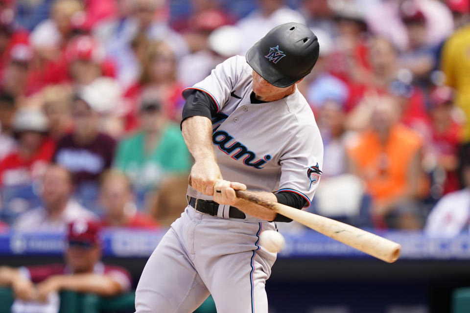
[[[295,92],[279,101],[251,103],[252,68],[235,56],[192,89],[217,105],[213,144],[223,179],[248,189],[288,190],[309,204],[320,179],[323,144],[305,98]],[[188,187],[188,196],[211,200]],[[211,293],[218,312],[267,313],[265,282],[276,254],[258,245],[259,233],[275,223],[247,216],[217,216],[188,205],[143,269],[136,312],[192,312]]]

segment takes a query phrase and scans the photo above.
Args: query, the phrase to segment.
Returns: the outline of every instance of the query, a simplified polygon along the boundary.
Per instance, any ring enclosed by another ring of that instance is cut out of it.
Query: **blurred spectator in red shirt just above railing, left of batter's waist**
[[[130,180],[120,171],[105,173],[101,180],[99,200],[104,208],[103,226],[155,228],[147,214],[137,211]]]

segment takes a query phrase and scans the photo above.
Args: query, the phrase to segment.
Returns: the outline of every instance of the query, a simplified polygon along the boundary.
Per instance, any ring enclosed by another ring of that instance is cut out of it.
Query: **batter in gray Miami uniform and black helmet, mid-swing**
[[[289,222],[235,190],[307,207],[322,173],[323,144],[296,88],[318,58],[303,24],[273,28],[185,89],[182,132],[194,156],[188,206],[150,256],[136,312],[193,312],[212,294],[218,312],[267,313],[264,285],[276,253],[259,233]],[[274,221],[274,222],[273,222]]]

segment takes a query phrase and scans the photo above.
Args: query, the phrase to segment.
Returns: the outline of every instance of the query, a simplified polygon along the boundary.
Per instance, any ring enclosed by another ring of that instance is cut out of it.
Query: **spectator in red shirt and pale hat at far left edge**
[[[13,118],[17,151],[0,161],[0,186],[28,185],[40,177],[54,154],[47,136],[47,117],[38,109],[24,108]]]

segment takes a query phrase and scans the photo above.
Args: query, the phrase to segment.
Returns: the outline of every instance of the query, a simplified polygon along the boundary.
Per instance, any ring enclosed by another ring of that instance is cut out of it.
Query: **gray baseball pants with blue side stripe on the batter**
[[[276,253],[258,243],[261,230],[275,228],[188,206],[142,271],[136,313],[191,313],[209,294],[219,313],[267,313],[264,286]]]

